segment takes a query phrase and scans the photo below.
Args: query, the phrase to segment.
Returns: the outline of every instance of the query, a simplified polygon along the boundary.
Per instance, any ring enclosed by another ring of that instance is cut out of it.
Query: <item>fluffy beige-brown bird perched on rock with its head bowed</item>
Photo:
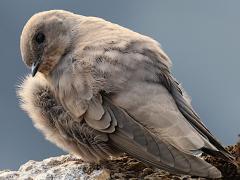
[[[151,37],[65,10],[34,14],[20,37],[31,68],[21,107],[47,140],[87,162],[126,153],[174,174],[220,178],[201,153],[234,161],[203,124]]]

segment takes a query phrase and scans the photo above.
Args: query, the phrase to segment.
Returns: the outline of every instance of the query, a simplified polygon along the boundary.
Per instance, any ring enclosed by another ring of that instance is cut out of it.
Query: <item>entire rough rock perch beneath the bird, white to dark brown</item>
[[[239,159],[240,164],[240,143],[229,146],[227,149]],[[206,161],[218,167],[223,179],[240,179],[240,173],[235,166],[210,156],[203,155]],[[174,179],[188,180],[199,179],[190,176],[172,175],[165,171],[147,167],[139,161],[121,156],[99,164],[89,164],[71,155],[52,157],[43,161],[28,161],[18,171],[0,171],[0,180],[88,180],[88,179]]]

